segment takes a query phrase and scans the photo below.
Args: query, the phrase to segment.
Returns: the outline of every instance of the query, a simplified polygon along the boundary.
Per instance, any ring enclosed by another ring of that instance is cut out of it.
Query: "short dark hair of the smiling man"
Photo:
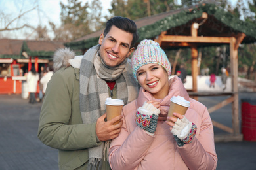
[[[115,16],[108,20],[106,23],[106,27],[104,30],[104,37],[108,34],[112,26],[116,26],[117,28],[133,34],[133,41],[131,41],[131,48],[135,46],[136,41],[139,39],[139,35],[137,32],[137,26],[133,20],[130,20],[129,18],[125,18],[122,16]]]

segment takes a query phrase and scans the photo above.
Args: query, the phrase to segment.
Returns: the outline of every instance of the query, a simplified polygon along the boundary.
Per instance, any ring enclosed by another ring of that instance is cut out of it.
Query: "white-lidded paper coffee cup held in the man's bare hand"
[[[106,113],[107,113],[107,121],[112,118],[119,116],[121,114],[121,110],[123,109],[123,100],[121,99],[106,99]],[[115,122],[114,124],[118,124],[120,121]]]

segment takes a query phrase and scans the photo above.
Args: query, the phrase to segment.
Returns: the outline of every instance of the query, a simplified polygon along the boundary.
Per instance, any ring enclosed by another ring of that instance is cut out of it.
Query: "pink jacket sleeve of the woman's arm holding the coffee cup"
[[[199,135],[196,135],[192,143],[179,147],[179,152],[189,169],[216,169],[217,154],[215,152],[213,124],[207,108],[201,103],[196,104],[194,110],[202,118],[201,124],[197,125],[200,127],[200,130],[197,131]]]

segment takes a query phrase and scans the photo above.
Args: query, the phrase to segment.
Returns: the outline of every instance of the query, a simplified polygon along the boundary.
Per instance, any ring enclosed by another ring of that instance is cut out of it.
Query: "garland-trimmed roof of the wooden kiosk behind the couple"
[[[207,14],[207,20],[202,18]],[[166,35],[190,35],[191,24],[197,22],[200,25],[198,36],[207,37],[232,37],[238,33],[244,33],[246,37],[242,43],[252,43],[256,41],[256,25],[250,22],[244,22],[214,4],[201,4],[196,7],[187,7],[179,10],[171,10],[154,16],[149,16],[135,20],[138,27],[139,40],[156,39],[158,35],[166,31]],[[84,50],[98,44],[98,37],[104,29],[85,35],[75,41],[65,43],[64,45],[74,50]],[[219,44],[202,43],[202,46],[217,46]],[[168,47],[168,44],[161,44],[162,48]],[[177,46],[177,45],[175,45]]]

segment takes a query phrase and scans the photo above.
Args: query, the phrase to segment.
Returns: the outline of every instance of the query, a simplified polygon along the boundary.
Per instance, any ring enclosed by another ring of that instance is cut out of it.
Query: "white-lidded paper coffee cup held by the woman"
[[[186,110],[188,110],[188,107],[190,107],[190,102],[184,99],[184,97],[173,96],[171,97],[168,116],[177,118],[176,116],[173,116],[173,112],[184,115],[186,113]]]

